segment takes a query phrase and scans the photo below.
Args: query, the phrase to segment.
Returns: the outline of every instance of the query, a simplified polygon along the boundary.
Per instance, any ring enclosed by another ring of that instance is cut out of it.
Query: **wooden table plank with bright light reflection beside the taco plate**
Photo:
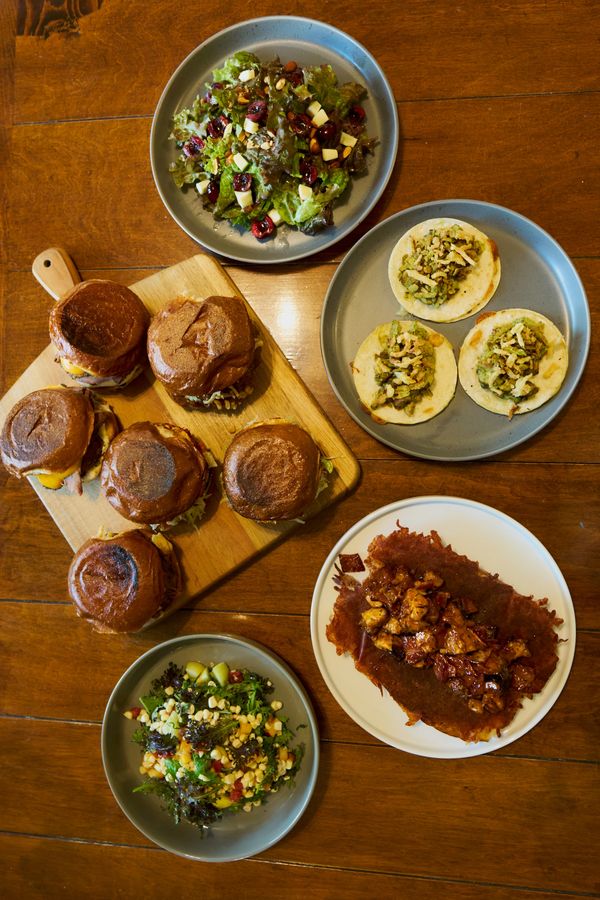
[[[37,248],[41,251],[42,247]],[[544,431],[503,454],[502,461],[596,462],[600,444],[600,261],[579,259],[577,266],[587,289],[592,313],[592,346],[583,378],[566,409]],[[111,278],[125,284],[139,281],[154,270],[87,269],[85,278]],[[158,271],[158,270],[157,270]],[[323,367],[320,352],[320,316],[323,299],[335,272],[333,265],[308,265],[301,274],[297,267],[277,270],[276,277],[256,267],[227,266],[227,271],[251,306],[272,333],[290,363],[306,382],[336,428],[359,457],[398,459],[395,450],[380,444],[362,430],[347,414],[335,396]],[[46,347],[50,297],[29,270],[8,275],[4,334],[0,334],[6,377],[0,384],[4,393],[28,365]],[[301,330],[299,323],[302,323]],[[19,347],[19,353],[9,352]],[[459,388],[460,390],[460,388]],[[584,422],[582,428],[580,423]],[[573,435],[577,440],[573,440]]]

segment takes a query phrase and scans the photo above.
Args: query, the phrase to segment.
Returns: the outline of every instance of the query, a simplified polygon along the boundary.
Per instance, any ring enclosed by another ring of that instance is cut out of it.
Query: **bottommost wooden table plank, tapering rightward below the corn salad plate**
[[[144,885],[145,900],[164,900],[164,881],[149,878],[149,872],[172,868],[172,857],[159,849],[116,847],[102,844],[65,842],[41,837],[0,835],[0,853],[6,860],[5,890],[9,896],[27,891],[30,900],[57,897],[129,898],[132,885]],[[233,885],[243,885],[245,900],[279,896],[297,898],[309,893],[313,900],[506,900],[506,889],[493,885],[459,883],[441,879],[384,875],[376,872],[319,869],[290,864],[272,864],[263,859],[228,863],[223,866],[186,859],[176,862],[177,882],[200,882],[202,896],[216,900],[228,896]],[[233,894],[231,894],[233,896]],[[239,896],[239,894],[237,894]],[[510,889],[512,900],[556,900],[549,891]],[[563,898],[580,894],[561,893]]]

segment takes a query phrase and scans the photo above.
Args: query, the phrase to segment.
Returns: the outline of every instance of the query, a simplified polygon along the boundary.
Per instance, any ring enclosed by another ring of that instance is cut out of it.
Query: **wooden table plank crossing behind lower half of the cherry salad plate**
[[[403,140],[390,185],[365,222],[320,258],[349,249],[402,208],[451,197],[511,207],[574,256],[595,254],[597,110],[595,94],[401,104]],[[81,268],[161,266],[191,256],[193,241],[169,221],[152,183],[149,134],[148,118],[49,124],[41,132],[37,125],[15,128],[11,267],[28,268],[46,246],[66,247]],[[38,144],[43,153],[32,154]],[[542,170],[544,177],[537,177]],[[81,177],[74,179],[74,172]]]

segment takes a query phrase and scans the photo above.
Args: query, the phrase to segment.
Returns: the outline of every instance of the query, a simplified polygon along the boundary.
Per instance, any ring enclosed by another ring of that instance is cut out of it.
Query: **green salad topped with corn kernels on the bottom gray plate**
[[[224,662],[169,663],[142,705],[124,713],[138,723],[132,740],[143,749],[145,778],[134,790],[160,797],[175,822],[204,828],[292,784],[303,746],[292,747],[273,690],[269,679]]]

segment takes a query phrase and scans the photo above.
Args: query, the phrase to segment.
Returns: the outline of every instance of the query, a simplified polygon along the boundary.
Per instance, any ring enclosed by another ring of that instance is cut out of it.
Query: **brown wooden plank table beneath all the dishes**
[[[281,8],[0,4],[0,157],[10,152],[1,170],[2,390],[47,343],[50,299],[30,272],[40,250],[63,246],[84,277],[124,283],[197,251],[152,183],[155,104],[211,33]],[[350,31],[377,57],[398,103],[400,155],[374,211],[331,251],[268,273],[228,271],[360,458],[362,483],[162,627],[106,637],[73,614],[70,551],[33,491],[0,474],[5,896],[598,896],[596,332],[564,412],[515,450],[467,464],[411,459],[371,439],[337,402],[319,351],[323,298],[352,243],[398,210],[450,197],[511,207],[548,230],[573,258],[598,328],[596,4],[306,0],[302,13]],[[314,660],[310,601],[330,548],[372,509],[415,494],[458,495],[513,516],[545,544],[573,595],[577,651],[563,694],[536,728],[491,755],[441,761],[379,743],[337,706]],[[154,847],[117,807],[100,760],[100,720],[124,669],[161,640],[204,631],[254,638],[288,660],[322,733],[318,786],[300,824],[227,867]]]

